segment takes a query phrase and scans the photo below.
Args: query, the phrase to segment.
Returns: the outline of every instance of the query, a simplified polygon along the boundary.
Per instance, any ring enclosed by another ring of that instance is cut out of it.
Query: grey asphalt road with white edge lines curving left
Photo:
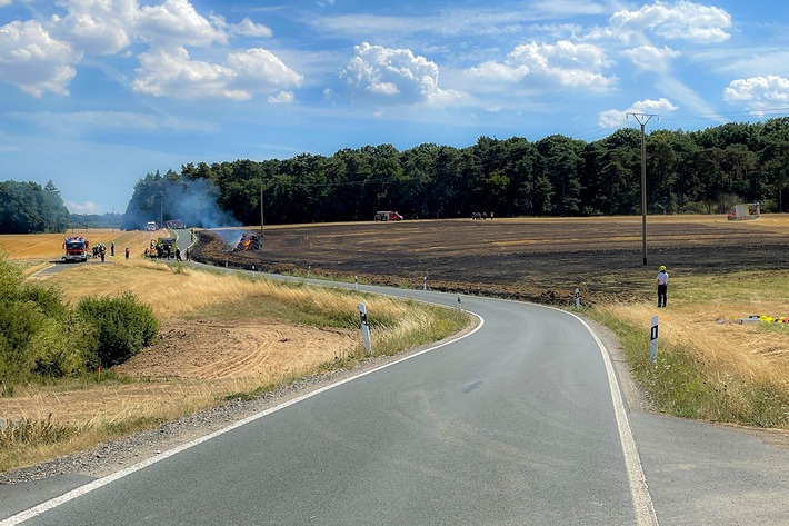
[[[570,314],[462,307],[485,320],[466,338],[0,524],[789,524],[789,450],[628,411],[599,340]]]

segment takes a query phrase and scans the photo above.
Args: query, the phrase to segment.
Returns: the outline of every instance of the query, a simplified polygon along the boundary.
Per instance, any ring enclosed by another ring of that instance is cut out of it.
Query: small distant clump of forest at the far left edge
[[[60,190],[50,180],[0,182],[0,232],[62,232],[69,226],[69,210]]]

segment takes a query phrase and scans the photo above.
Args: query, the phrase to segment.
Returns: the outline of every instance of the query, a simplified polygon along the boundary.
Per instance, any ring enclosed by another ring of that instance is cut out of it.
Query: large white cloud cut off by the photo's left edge
[[[47,91],[68,95],[68,85],[77,75],[71,64],[79,60],[80,53],[53,39],[38,21],[0,27],[0,81],[34,97]]]

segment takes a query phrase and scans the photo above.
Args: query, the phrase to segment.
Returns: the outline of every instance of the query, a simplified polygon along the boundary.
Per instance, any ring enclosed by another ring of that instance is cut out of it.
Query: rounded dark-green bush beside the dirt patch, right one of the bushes
[[[151,308],[129,291],[117,298],[82,298],[77,310],[96,328],[96,356],[103,367],[128,360],[151,345],[159,333]]]

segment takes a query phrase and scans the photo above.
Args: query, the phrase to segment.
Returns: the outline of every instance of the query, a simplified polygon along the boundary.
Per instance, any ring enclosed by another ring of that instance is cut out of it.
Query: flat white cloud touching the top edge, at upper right
[[[685,0],[668,6],[657,1],[638,11],[617,11],[610,19],[610,26],[625,40],[651,31],[667,40],[712,43],[730,37],[726,29],[731,27],[731,16],[715,6]]]

